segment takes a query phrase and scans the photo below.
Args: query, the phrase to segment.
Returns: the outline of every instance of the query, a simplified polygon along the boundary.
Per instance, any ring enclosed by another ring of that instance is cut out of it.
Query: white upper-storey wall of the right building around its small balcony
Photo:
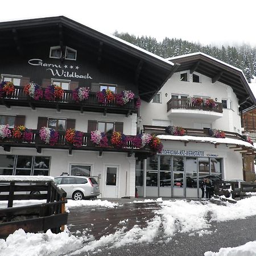
[[[140,112],[142,122],[140,127],[142,128],[143,125],[152,125],[152,119],[163,119],[170,120],[174,126],[194,128],[195,122],[209,123],[214,129],[236,132],[240,131],[241,133],[241,121],[240,116],[238,115],[238,99],[232,88],[218,81],[212,84],[212,80],[209,77],[196,72],[195,74],[200,76],[200,83],[190,82],[192,81],[192,78],[188,82],[180,81],[180,73],[184,72],[175,73],[159,91],[161,93],[160,104],[142,101]],[[192,118],[189,118],[189,115],[186,115],[184,117],[182,113],[180,115],[176,114],[175,117],[172,115],[168,117],[167,102],[170,100],[171,94],[183,94],[188,95],[189,97],[203,96],[213,99],[217,98],[217,102],[221,102],[221,100],[228,100],[228,108],[230,108],[230,102],[232,102],[232,105],[231,109],[224,109],[223,117],[215,120],[207,115],[200,115]]]

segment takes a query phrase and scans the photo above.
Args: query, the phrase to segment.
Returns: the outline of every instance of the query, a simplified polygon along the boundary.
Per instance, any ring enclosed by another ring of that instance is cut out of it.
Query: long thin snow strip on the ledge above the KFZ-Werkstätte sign
[[[256,150],[251,143],[246,141],[241,141],[240,139],[231,138],[213,138],[213,137],[195,137],[195,136],[175,136],[175,135],[158,135],[159,139],[167,139],[171,141],[195,141],[195,142],[208,142],[208,143],[220,143],[220,144],[236,144],[239,146],[245,146]]]

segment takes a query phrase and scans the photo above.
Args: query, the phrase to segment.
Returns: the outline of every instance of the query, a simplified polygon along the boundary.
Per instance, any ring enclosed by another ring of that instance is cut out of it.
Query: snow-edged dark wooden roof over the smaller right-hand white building
[[[241,109],[256,105],[256,100],[242,70],[215,59],[203,52],[195,52],[168,58],[173,63],[180,64],[176,72],[190,70],[199,72],[212,79],[212,83],[219,81],[232,87]]]

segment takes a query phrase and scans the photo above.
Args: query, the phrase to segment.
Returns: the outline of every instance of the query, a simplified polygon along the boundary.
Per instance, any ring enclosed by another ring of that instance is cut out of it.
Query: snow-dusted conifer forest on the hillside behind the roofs
[[[191,43],[187,40],[176,38],[164,38],[162,42],[158,42],[151,36],[138,37],[128,33],[119,33],[117,31],[114,32],[114,36],[163,58],[193,52],[204,52],[216,59],[242,69],[248,82],[251,82],[253,76],[256,76],[256,47],[251,47],[248,44],[243,44],[242,46],[237,47],[201,46],[199,43]]]

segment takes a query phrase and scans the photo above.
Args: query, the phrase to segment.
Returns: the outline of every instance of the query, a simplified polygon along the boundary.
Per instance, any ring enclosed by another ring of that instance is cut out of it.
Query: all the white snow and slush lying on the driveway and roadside
[[[126,219],[119,222],[122,225],[115,233],[102,236],[99,240],[94,240],[88,230],[82,232],[82,234],[77,232],[80,236],[74,236],[68,232],[68,229],[60,234],[52,234],[49,230],[46,234],[32,234],[25,233],[20,229],[7,237],[6,240],[0,240],[0,255],[76,255],[87,251],[101,250],[101,247],[120,247],[133,243],[151,242],[158,237],[162,228],[164,230],[164,241],[172,240],[178,232],[187,233],[189,236],[209,236],[211,233],[217,232],[216,230],[209,230],[212,221],[236,220],[256,215],[256,196],[237,201],[236,204],[222,203],[224,205],[213,204],[209,201],[203,201],[203,203],[185,200],[162,201],[162,199],[151,201],[158,202],[161,208],[155,210],[155,216],[147,221],[147,226],[144,228],[134,225],[133,228],[128,230],[128,220]],[[118,207],[118,204],[101,200],[68,201],[69,208],[79,205]],[[255,251],[255,242],[247,243],[241,248],[221,249],[217,254],[207,252],[205,255],[253,255],[249,253],[227,254],[226,252],[230,250],[250,252],[253,249]]]

